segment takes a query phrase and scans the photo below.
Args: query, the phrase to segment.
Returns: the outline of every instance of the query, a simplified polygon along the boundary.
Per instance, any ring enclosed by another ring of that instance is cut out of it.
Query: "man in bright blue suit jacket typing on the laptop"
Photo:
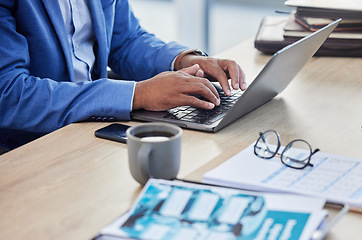
[[[162,42],[140,27],[128,0],[84,0],[95,60],[90,79],[77,79],[61,1],[0,0],[0,146],[11,149],[72,122],[128,120],[132,109],[213,108],[219,97],[205,77],[224,91],[229,77],[233,88],[245,89],[234,61]],[[107,66],[124,80],[108,79]]]

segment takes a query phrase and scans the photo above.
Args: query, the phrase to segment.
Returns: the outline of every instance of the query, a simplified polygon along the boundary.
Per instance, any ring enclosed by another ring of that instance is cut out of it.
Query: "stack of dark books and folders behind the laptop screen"
[[[263,19],[255,39],[257,49],[265,53],[275,53],[342,18],[317,55],[362,56],[362,2],[288,0],[285,4],[295,10],[287,16],[268,16]]]

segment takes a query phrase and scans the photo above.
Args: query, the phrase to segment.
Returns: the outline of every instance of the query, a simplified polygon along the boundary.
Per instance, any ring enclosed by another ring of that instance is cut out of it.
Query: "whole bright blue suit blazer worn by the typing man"
[[[0,130],[47,133],[94,118],[127,120],[132,80],[169,70],[186,49],[143,30],[127,0],[89,3],[98,80],[74,83],[57,0],[0,0]],[[125,80],[107,79],[108,65]]]

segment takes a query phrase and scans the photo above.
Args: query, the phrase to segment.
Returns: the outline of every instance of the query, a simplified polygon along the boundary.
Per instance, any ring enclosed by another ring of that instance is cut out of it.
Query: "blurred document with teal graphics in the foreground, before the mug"
[[[102,239],[322,239],[348,210],[326,222],[324,200],[151,179]]]

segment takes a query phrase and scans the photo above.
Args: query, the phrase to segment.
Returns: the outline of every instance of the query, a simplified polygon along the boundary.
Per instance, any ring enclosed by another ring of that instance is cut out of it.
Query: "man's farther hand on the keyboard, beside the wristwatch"
[[[186,68],[198,64],[210,81],[218,81],[226,95],[230,96],[230,86],[235,90],[246,89],[245,74],[241,67],[233,60],[187,54],[180,60],[179,68]]]

